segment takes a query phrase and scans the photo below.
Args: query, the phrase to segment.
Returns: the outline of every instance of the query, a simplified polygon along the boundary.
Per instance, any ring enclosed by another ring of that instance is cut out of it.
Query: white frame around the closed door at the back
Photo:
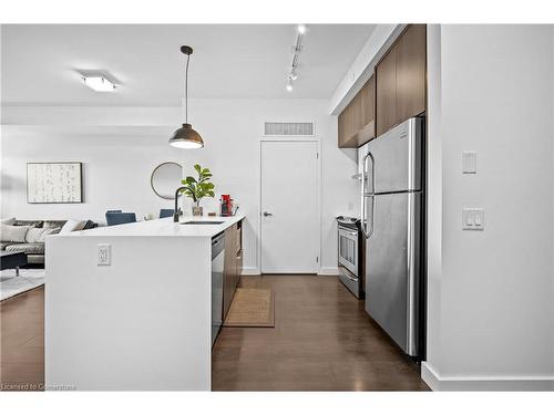
[[[316,274],[319,274],[321,271],[321,141],[317,137],[299,137],[299,136],[263,136],[259,138],[259,148],[258,148],[258,229],[259,229],[259,240],[257,243],[257,264],[259,269],[259,273],[261,274],[261,146],[264,143],[273,142],[273,143],[316,143],[317,148],[317,163],[316,163],[316,186],[317,186],[317,210],[316,210],[316,219],[317,219],[317,264],[316,264]]]

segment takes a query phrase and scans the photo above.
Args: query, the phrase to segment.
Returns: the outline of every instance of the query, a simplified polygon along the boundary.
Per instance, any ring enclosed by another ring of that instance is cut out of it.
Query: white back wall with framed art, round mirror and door
[[[314,121],[321,141],[321,267],[337,267],[335,217],[358,215],[356,151],[337,148],[337,120],[327,115],[327,100],[194,100],[189,120],[206,146],[179,151],[167,144],[182,122],[178,108],[6,107],[2,118],[1,216],[22,219],[89,218],[104,221],[106,209],[157,215],[171,200],[150,188],[153,168],[165,160],[205,165],[214,173],[217,197],[203,201],[217,209],[220,194],[230,194],[247,215],[245,268],[258,268],[259,138],[264,121]],[[49,124],[49,125],[45,125]],[[85,203],[29,205],[28,162],[84,163]],[[286,195],[284,194],[284,197]],[[351,209],[351,210],[350,210]]]

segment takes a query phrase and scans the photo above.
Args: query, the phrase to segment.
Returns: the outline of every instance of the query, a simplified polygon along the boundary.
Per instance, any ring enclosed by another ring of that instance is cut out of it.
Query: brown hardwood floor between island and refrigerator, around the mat
[[[275,328],[223,328],[214,391],[429,391],[419,367],[335,277],[243,277],[273,287]]]

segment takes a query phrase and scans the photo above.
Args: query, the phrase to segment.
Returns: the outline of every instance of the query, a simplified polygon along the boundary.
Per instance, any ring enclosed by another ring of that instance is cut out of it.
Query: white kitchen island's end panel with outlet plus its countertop
[[[48,237],[47,386],[209,391],[212,238],[242,219],[166,218]],[[184,224],[192,220],[219,224]]]

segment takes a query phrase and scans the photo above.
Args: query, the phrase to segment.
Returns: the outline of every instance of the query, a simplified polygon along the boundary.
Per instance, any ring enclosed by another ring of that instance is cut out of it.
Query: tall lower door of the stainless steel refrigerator
[[[375,196],[367,211],[366,311],[409,355],[418,355],[421,194]]]

